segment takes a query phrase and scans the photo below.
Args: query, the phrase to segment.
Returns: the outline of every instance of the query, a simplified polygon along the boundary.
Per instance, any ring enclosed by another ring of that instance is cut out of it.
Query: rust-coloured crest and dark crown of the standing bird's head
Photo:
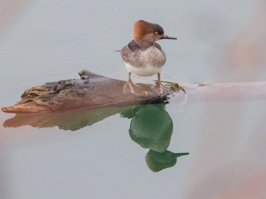
[[[158,24],[149,23],[144,20],[138,20],[133,27],[133,37],[135,41],[140,41],[140,39],[149,34],[149,33],[155,33],[158,32],[158,34],[163,34],[163,28]]]

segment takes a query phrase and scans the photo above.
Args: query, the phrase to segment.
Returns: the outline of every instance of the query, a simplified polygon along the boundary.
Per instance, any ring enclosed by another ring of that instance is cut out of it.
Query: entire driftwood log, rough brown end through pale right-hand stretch
[[[184,102],[185,95],[155,96],[151,84],[138,84],[142,92],[138,96],[123,94],[125,81],[111,79],[83,70],[81,79],[49,82],[34,86],[21,95],[21,101],[1,108],[6,113],[66,112],[103,107],[154,104],[170,101]],[[202,101],[226,101],[266,99],[266,82],[210,83],[185,85],[187,103]],[[170,86],[169,86],[170,88]],[[173,94],[176,94],[170,88]],[[181,92],[182,93],[182,92]]]

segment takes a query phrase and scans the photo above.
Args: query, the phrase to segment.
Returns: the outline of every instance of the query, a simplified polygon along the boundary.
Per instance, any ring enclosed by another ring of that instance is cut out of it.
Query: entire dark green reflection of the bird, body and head
[[[150,149],[145,157],[150,170],[158,172],[172,167],[176,164],[177,157],[189,154],[167,150],[173,132],[173,122],[165,110],[165,104],[139,105],[120,114],[131,119],[131,139],[141,147]]]

